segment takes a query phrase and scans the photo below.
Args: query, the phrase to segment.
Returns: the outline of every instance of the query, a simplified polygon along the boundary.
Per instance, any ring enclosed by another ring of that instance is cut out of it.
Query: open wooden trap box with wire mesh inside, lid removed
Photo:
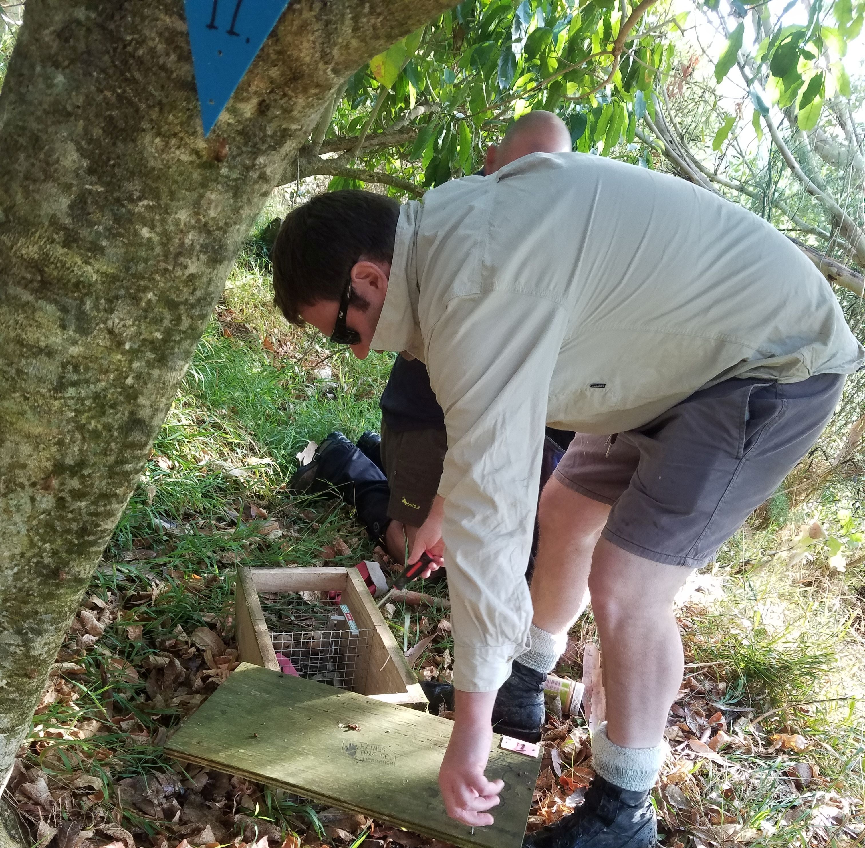
[[[326,597],[337,592],[349,616]],[[357,569],[237,569],[235,626],[243,662],[280,671],[287,659],[302,678],[426,710]]]

